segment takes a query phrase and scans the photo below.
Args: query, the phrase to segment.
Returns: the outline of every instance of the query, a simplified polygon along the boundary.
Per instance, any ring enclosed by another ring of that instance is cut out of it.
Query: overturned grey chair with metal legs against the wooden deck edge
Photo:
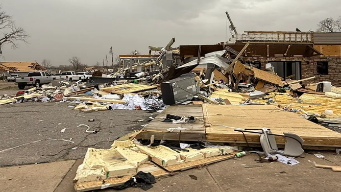
[[[302,142],[304,142],[304,140],[300,136],[294,133],[283,133],[284,135],[278,135],[278,134],[273,134],[271,130],[267,128],[244,129],[244,130],[234,130],[234,131],[242,132],[243,135],[244,135],[244,132],[260,134],[260,144],[264,150],[265,155],[280,154],[280,155],[297,157],[297,156],[300,156],[304,152],[303,145],[302,145]],[[286,138],[284,152],[278,150],[275,136]]]

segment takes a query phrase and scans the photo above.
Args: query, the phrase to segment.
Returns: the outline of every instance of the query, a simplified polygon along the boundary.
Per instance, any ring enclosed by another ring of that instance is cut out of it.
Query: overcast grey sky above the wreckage
[[[341,13],[339,0],[2,0],[2,8],[31,36],[19,49],[3,47],[0,61],[50,59],[68,65],[102,62],[113,53],[165,46],[226,41],[228,11],[238,33],[244,31],[315,30],[326,17]],[[228,31],[228,38],[230,38]],[[114,55],[114,57],[115,57]],[[111,62],[111,61],[110,61]],[[110,63],[109,62],[109,63]]]

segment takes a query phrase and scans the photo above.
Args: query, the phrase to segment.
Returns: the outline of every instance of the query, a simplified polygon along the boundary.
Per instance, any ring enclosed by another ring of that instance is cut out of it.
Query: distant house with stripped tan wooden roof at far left
[[[26,76],[30,71],[45,70],[37,62],[0,62],[0,74],[9,76],[10,74],[18,74]]]

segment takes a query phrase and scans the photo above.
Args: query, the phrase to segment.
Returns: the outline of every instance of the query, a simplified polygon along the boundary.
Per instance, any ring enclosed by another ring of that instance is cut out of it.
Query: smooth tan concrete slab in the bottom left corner
[[[72,160],[1,168],[1,191],[52,192],[74,163]]]

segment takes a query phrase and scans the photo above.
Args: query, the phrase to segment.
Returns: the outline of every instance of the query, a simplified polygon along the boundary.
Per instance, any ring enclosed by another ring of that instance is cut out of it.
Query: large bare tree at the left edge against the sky
[[[10,44],[12,49],[19,47],[18,41],[27,43],[29,35],[21,27],[16,27],[12,16],[2,10],[0,6],[0,54],[4,44]]]

